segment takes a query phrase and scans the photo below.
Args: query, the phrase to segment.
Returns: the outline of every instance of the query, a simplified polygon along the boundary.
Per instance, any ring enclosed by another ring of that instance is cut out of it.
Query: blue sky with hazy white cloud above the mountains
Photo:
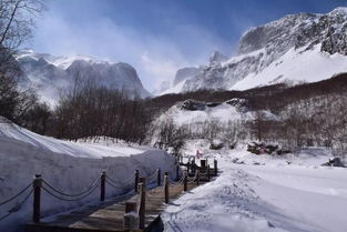
[[[289,13],[326,13],[347,0],[48,0],[25,47],[133,65],[153,91],[184,67],[228,57],[248,29]]]

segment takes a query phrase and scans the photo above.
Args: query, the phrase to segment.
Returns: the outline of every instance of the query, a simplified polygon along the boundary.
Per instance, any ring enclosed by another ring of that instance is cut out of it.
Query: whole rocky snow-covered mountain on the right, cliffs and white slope
[[[241,38],[235,57],[214,52],[210,63],[176,78],[180,81],[162,94],[313,82],[346,71],[347,8],[337,8],[327,14],[290,14],[253,28]]]

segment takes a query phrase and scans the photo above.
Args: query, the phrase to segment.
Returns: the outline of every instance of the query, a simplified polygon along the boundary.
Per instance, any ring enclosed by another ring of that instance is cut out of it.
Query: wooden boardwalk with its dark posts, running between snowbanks
[[[205,164],[202,161],[202,164]],[[124,230],[124,213],[125,213],[125,202],[129,205],[135,206],[137,210],[136,215],[140,215],[140,228],[147,228],[150,223],[154,221],[157,215],[170,205],[170,201],[177,199],[181,194],[190,192],[190,190],[196,188],[197,185],[211,181],[213,175],[217,173],[217,165],[215,161],[215,169],[211,169],[210,165],[197,167],[194,164],[187,164],[187,172],[182,175],[180,181],[170,181],[169,174],[164,175],[164,183],[162,186],[156,186],[154,189],[145,190],[145,178],[140,178],[139,171],[135,171],[134,179],[135,185],[139,186],[139,194],[125,194],[120,196],[114,196],[108,200],[105,199],[105,183],[112,185],[111,179],[109,179],[105,173],[101,175],[101,203],[90,204],[76,210],[70,211],[69,213],[62,213],[55,215],[54,218],[40,219],[40,206],[35,208],[35,200],[40,202],[40,189],[42,188],[48,193],[48,186],[50,186],[41,176],[38,176],[33,181],[34,191],[39,190],[38,198],[34,195],[34,208],[33,208],[33,223],[25,225],[27,232],[111,232],[111,231],[129,231]],[[176,178],[178,179],[180,165],[177,164]],[[160,169],[152,175],[152,178],[157,179],[157,184],[162,184]],[[150,178],[151,180],[153,180]],[[139,181],[142,183],[139,183]],[[35,184],[39,182],[39,184]],[[42,185],[45,184],[45,185]],[[93,191],[93,188],[99,186],[99,182],[94,184],[89,192]],[[166,186],[166,188],[165,188]],[[186,192],[184,191],[186,186]],[[50,186],[52,190],[54,188]],[[166,192],[165,192],[166,190]],[[57,191],[57,190],[55,190]],[[169,192],[169,195],[167,195]],[[34,192],[35,193],[35,192]],[[165,198],[166,193],[166,198]],[[54,194],[53,194],[54,195]],[[169,198],[167,198],[169,196]],[[165,201],[169,202],[165,204]],[[40,204],[38,204],[40,205]],[[38,210],[37,210],[38,209]],[[143,211],[143,209],[145,209]],[[35,213],[39,212],[39,213]],[[37,215],[37,216],[35,216]],[[136,230],[143,231],[143,230]]]

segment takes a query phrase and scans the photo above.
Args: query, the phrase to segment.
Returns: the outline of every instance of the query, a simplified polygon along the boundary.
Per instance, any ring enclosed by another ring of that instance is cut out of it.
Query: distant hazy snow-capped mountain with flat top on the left
[[[91,57],[54,57],[23,50],[16,56],[27,80],[40,98],[54,104],[61,90],[71,87],[76,79],[94,80],[96,84],[136,92],[145,98],[151,94],[143,88],[136,70],[127,63],[100,61]]]

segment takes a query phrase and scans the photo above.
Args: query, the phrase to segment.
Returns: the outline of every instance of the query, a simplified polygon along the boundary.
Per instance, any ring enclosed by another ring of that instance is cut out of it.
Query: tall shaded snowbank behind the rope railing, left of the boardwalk
[[[65,193],[80,193],[100,178],[102,171],[116,181],[119,189],[106,185],[106,196],[129,190],[127,180],[134,171],[142,176],[152,175],[157,168],[175,173],[175,159],[161,150],[147,147],[112,143],[110,141],[68,142],[42,137],[7,123],[0,119],[0,203],[20,192],[32,182],[34,174],[55,189]],[[0,205],[0,231],[11,232],[24,222],[31,221],[32,195],[19,205],[30,192],[29,188],[20,198]],[[65,202],[42,193],[42,216],[59,213],[84,203],[98,202],[100,188],[78,202]],[[7,219],[9,211],[13,211]]]

